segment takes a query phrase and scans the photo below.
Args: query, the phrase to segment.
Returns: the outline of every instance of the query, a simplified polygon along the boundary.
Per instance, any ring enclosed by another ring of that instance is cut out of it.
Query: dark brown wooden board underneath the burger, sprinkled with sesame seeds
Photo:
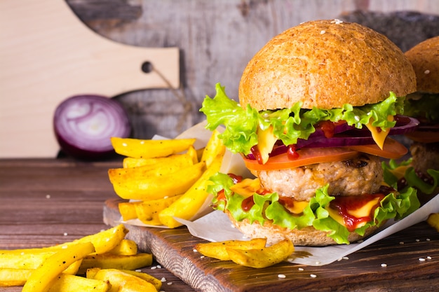
[[[119,202],[122,200],[105,202],[104,223],[118,224]],[[158,263],[196,291],[439,291],[439,232],[425,222],[330,265],[280,263],[264,269],[201,257],[194,245],[205,240],[193,237],[186,227],[126,227],[130,230],[127,237],[140,250],[153,253]]]

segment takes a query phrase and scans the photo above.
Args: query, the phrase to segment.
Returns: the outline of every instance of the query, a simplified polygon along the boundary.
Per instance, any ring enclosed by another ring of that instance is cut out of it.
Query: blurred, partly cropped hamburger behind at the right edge
[[[419,126],[406,134],[412,140],[412,160],[403,183],[428,199],[439,184],[439,36],[417,44],[405,56],[417,76],[417,92],[407,95],[405,114],[417,118]]]

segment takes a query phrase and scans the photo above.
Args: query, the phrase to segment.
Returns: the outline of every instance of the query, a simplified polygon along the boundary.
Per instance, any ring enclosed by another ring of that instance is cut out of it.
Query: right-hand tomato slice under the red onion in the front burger
[[[377,144],[349,146],[351,150],[360,151],[367,154],[377,155],[382,158],[398,159],[407,154],[408,149],[400,142],[389,137],[384,141],[383,149]]]

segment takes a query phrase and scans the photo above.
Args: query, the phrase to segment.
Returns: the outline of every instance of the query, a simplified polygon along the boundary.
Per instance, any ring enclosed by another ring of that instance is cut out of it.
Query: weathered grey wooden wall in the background
[[[90,29],[114,41],[180,48],[183,88],[178,95],[172,90],[141,90],[116,97],[128,109],[137,138],[175,137],[203,120],[198,109],[205,95],[215,95],[215,83],[225,85],[229,96],[237,98],[242,71],[252,55],[300,22],[332,18],[360,22],[387,34],[403,50],[439,35],[437,0],[67,0],[67,4]]]

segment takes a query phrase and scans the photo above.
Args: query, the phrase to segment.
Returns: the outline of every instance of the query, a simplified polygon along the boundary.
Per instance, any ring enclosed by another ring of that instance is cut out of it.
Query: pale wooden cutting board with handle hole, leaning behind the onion
[[[169,88],[156,71],[180,86],[178,48],[105,39],[62,0],[0,1],[0,39],[0,158],[55,157],[53,113],[67,97]]]

